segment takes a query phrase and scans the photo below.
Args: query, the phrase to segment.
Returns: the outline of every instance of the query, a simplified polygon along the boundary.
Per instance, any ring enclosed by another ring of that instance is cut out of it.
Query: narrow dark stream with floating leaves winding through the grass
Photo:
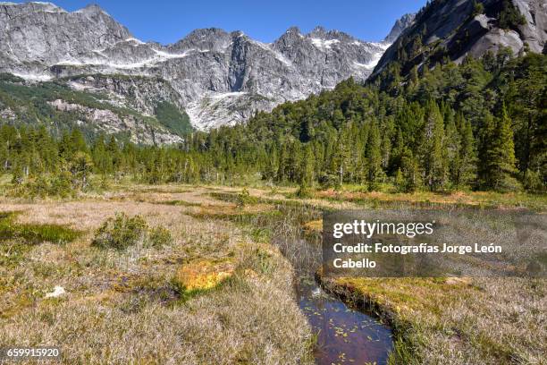
[[[317,335],[316,364],[385,364],[393,346],[390,327],[319,287],[320,247],[302,239],[277,244],[297,271],[299,307]]]

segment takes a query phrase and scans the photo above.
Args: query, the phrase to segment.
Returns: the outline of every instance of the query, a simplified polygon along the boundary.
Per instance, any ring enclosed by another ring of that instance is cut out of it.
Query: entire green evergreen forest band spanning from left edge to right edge
[[[0,158],[16,183],[86,186],[91,172],[147,183],[226,183],[257,176],[368,190],[544,191],[547,55],[507,50],[445,61],[374,84],[351,79],[307,100],[257,113],[248,124],[192,134],[176,148],[144,148],[80,132],[0,132]],[[48,173],[48,174],[44,174]],[[50,177],[47,177],[50,176]],[[61,176],[61,177],[60,177]],[[49,180],[48,180],[49,179]],[[302,191],[302,190],[301,190]]]

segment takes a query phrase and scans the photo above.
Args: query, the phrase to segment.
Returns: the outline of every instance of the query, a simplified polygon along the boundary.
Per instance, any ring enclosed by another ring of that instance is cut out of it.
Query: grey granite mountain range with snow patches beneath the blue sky
[[[0,3],[0,72],[69,80],[74,89],[105,92],[113,104],[145,115],[165,99],[206,130],[349,77],[364,81],[409,23],[406,15],[382,43],[317,27],[308,34],[290,28],[271,44],[240,31],[194,30],[163,46],[134,38],[97,5],[69,13],[50,3]]]

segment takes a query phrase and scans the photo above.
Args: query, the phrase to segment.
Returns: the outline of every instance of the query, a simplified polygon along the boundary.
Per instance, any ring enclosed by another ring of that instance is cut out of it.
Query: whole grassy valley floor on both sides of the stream
[[[294,298],[292,267],[267,232],[231,217],[278,213],[280,205],[547,207],[544,196],[493,193],[248,193],[125,185],[74,200],[1,199],[0,347],[58,345],[64,363],[313,363],[314,335]],[[117,212],[163,226],[172,239],[157,247],[95,247],[97,228]],[[391,322],[391,363],[545,363],[545,280],[324,284]]]

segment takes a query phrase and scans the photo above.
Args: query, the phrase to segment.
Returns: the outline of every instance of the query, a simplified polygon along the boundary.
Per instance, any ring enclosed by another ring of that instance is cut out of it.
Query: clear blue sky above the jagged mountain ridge
[[[18,1],[23,3],[23,1]],[[68,11],[100,5],[137,38],[173,43],[197,28],[242,30],[271,42],[290,26],[307,32],[322,25],[363,40],[381,40],[404,13],[425,0],[57,0]]]

